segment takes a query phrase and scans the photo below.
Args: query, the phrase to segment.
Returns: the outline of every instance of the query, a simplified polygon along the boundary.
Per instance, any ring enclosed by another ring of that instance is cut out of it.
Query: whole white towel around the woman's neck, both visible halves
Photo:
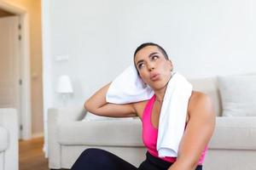
[[[157,150],[160,157],[177,157],[180,140],[183,137],[189,97],[192,85],[176,72],[168,82],[160,111]],[[134,65],[129,66],[116,77],[108,88],[106,100],[109,103],[125,104],[150,99],[152,88],[146,86],[137,75]]]

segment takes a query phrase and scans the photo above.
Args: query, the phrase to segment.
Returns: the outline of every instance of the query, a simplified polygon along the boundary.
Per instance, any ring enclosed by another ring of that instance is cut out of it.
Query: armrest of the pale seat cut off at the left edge
[[[0,126],[8,131],[9,145],[4,150],[4,168],[18,170],[18,117],[11,108],[0,109]]]

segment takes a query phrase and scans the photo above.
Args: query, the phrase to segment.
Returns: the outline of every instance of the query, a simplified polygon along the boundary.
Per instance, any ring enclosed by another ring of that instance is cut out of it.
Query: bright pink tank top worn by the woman
[[[156,157],[158,156],[158,151],[156,150],[158,129],[155,128],[151,122],[152,109],[154,105],[155,95],[148,100],[148,103],[143,111],[143,143],[148,149],[148,152]],[[201,157],[199,159],[198,165],[201,165],[205,159],[207,152],[207,147],[203,150]],[[165,161],[174,162],[176,157],[160,157]]]

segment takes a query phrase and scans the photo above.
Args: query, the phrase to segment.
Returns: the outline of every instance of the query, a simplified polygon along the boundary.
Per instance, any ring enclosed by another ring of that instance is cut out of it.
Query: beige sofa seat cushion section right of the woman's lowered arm
[[[218,116],[210,149],[256,150],[256,116]]]

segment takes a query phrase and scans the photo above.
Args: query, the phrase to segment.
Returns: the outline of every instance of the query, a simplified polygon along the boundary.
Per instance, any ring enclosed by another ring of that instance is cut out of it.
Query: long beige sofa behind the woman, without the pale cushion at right
[[[222,116],[217,77],[190,80],[208,94],[216,109],[216,128],[204,162],[206,170],[256,168],[256,116]],[[81,121],[85,116],[85,121]],[[138,166],[145,159],[138,118],[92,120],[81,106],[49,109],[49,168],[69,168],[86,148],[109,150]],[[87,120],[86,120],[87,119]]]

